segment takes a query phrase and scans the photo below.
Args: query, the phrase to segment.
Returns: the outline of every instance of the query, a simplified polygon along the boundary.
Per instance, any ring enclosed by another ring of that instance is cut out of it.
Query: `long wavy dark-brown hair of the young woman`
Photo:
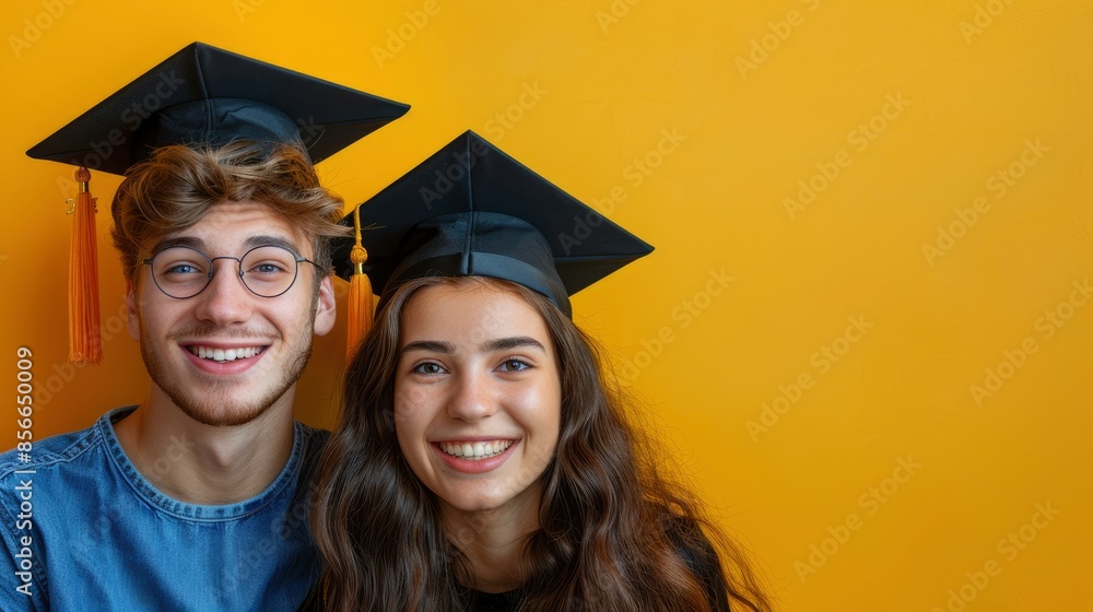
[[[458,544],[475,533],[445,531],[435,495],[399,448],[393,404],[408,299],[422,287],[473,282],[504,287],[542,316],[562,387],[557,448],[541,475],[540,529],[525,542],[519,610],[706,612],[726,600],[733,610],[772,610],[739,546],[704,518],[689,491],[662,475],[663,457],[627,425],[619,395],[601,381],[590,339],[538,293],[474,276],[400,286],[349,365],[312,516],[327,562],[325,608],[469,609],[474,577]]]

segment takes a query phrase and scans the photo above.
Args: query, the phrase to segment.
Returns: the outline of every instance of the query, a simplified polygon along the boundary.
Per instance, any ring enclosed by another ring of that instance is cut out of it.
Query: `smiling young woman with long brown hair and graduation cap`
[[[320,608],[771,610],[743,555],[627,425],[569,319],[572,272],[527,255],[548,240],[524,235],[510,261],[485,263],[502,250],[487,236],[527,229],[519,214],[474,209],[419,224],[427,239],[391,240],[411,247],[381,280],[320,466]]]

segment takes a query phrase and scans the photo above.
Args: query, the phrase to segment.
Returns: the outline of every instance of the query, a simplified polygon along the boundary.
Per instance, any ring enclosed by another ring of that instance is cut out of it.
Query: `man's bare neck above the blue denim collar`
[[[249,423],[220,427],[189,417],[153,384],[148,400],[114,429],[137,470],[165,495],[234,504],[265,491],[289,461],[293,391]]]

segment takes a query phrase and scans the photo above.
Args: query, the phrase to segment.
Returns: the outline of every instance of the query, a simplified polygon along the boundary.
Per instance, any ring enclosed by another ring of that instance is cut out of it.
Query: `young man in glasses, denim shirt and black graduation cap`
[[[156,113],[127,115],[150,95]],[[0,609],[299,605],[326,433],[293,400],[334,323],[328,243],[344,233],[312,164],[407,109],[195,44],[30,152],[128,169],[111,234],[152,385],[30,462],[0,456]],[[80,150],[104,136],[108,154]]]

